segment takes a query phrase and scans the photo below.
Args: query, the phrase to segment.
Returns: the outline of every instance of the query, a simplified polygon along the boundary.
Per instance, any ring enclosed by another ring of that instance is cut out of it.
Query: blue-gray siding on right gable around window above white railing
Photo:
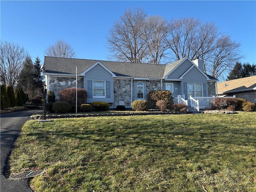
[[[184,75],[183,80],[182,80],[182,90],[183,93],[185,94],[184,90],[184,83],[202,83],[202,84],[206,84],[206,86],[203,88],[205,88],[206,90],[203,90],[203,96],[204,97],[208,97],[208,86],[207,86],[207,79],[206,77],[198,71],[197,68],[192,68],[186,75]],[[205,94],[205,95],[204,95]]]

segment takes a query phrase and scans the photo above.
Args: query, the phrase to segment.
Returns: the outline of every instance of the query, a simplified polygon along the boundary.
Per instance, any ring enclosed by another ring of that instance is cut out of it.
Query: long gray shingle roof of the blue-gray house
[[[54,74],[82,74],[97,62],[100,62],[116,76],[130,76],[135,78],[162,78],[183,62],[186,58],[182,58],[168,65],[146,64],[146,63],[130,63],[102,60],[88,60],[76,58],[56,58],[44,57],[44,72]],[[211,78],[210,78],[211,79]]]

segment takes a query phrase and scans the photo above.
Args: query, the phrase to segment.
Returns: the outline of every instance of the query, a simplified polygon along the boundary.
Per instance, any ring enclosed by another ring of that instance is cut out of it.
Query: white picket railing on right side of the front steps
[[[213,106],[213,100],[216,97],[192,97],[190,96],[190,105],[197,111],[200,109],[205,109],[206,107]],[[226,98],[236,98],[236,96],[226,97]]]

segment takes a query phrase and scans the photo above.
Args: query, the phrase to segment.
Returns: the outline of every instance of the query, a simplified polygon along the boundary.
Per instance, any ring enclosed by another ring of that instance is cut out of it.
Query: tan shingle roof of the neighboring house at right
[[[220,82],[217,85],[218,94],[256,90],[256,75]]]

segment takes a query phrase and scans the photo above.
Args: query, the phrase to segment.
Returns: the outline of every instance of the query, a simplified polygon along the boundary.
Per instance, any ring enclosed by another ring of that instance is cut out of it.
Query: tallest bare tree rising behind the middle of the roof
[[[148,54],[144,40],[145,18],[142,9],[128,9],[119,21],[114,22],[107,37],[112,57],[124,62],[145,62]]]

